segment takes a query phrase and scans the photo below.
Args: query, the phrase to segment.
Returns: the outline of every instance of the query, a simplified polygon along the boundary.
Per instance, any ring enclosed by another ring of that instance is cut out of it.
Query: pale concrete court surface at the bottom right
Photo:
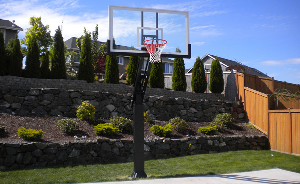
[[[164,179],[144,179],[135,181],[123,182],[100,182],[92,184],[184,184],[184,183],[203,183],[203,184],[300,184],[300,174],[285,171],[282,169],[268,169],[262,171],[251,171],[241,173],[231,173],[224,175],[211,175],[211,176],[195,176],[183,178],[164,178]]]

